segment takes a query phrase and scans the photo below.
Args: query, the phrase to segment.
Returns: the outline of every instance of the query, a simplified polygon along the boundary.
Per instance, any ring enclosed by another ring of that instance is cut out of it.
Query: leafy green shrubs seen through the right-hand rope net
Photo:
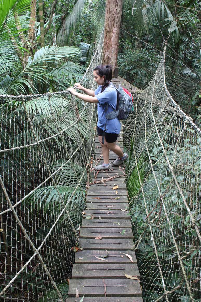
[[[184,197],[187,199],[187,203],[190,204],[190,200],[193,201],[191,207],[191,213],[195,213],[196,207],[196,196],[199,195],[200,188],[197,186],[199,175],[201,173],[201,161],[200,161],[200,143],[201,139],[197,136],[197,140],[192,143],[191,137],[195,134],[195,130],[187,130],[185,137],[183,137],[180,146],[177,146],[177,152],[174,152],[173,146],[170,145],[171,132],[177,136],[177,127],[171,129],[165,137],[164,146],[167,152],[168,159],[172,163],[175,160],[174,173],[176,174],[176,179]],[[154,172],[157,181],[160,186],[161,193],[164,194],[167,187],[170,187],[174,183],[171,171],[167,169],[167,162],[163,156],[161,144],[154,143],[150,148],[150,157],[152,160],[152,165],[156,161],[159,161],[157,165],[154,165]],[[144,162],[141,161],[141,157],[138,161],[138,166],[140,169],[140,177],[143,181],[147,173],[147,168],[144,169]],[[129,164],[130,167],[130,164]],[[145,173],[146,170],[146,173]],[[188,173],[188,177],[186,175]],[[136,180],[138,178],[138,180]],[[132,188],[133,185],[133,188]],[[130,207],[131,207],[131,219],[133,221],[133,233],[135,239],[139,239],[140,235],[143,233],[142,240],[136,250],[138,268],[142,271],[141,282],[145,284],[143,286],[143,300],[147,302],[153,301],[160,297],[163,293],[163,285],[159,277],[158,262],[156,260],[156,253],[159,257],[160,265],[162,268],[162,275],[165,281],[165,286],[167,289],[172,289],[181,282],[180,266],[178,262],[177,251],[174,246],[171,232],[169,230],[169,225],[166,220],[166,214],[163,210],[163,206],[159,201],[159,191],[156,186],[156,182],[153,174],[151,173],[145,185],[143,186],[143,194],[140,194],[136,198],[139,192],[139,176],[135,172],[135,168],[127,179],[127,189],[130,190]],[[190,193],[191,192],[191,193]],[[191,195],[188,198],[189,194]],[[177,190],[176,186],[173,186],[168,193],[163,198],[167,215],[169,218],[170,225],[172,227],[174,237],[179,248],[180,255],[186,254],[186,246],[191,246],[195,244],[196,232],[195,229],[190,224],[190,216],[187,209],[182,202],[180,192]],[[145,207],[146,204],[146,207]],[[151,223],[152,233],[154,236],[155,247],[153,245],[153,239],[151,231],[148,225],[147,212],[149,213],[149,219],[155,218],[154,222]],[[158,217],[156,216],[158,214]],[[200,224],[199,217],[197,218],[198,226]],[[155,251],[155,248],[157,249]],[[198,271],[196,270],[196,257],[199,255],[199,248],[187,257],[183,261],[184,269],[187,276],[191,280],[196,280],[198,276]],[[146,270],[144,271],[146,267]],[[170,270],[171,267],[171,270]],[[194,289],[194,301],[200,300],[199,287],[198,291]],[[168,296],[170,301],[185,300],[190,301],[190,296],[183,285],[175,293]]]

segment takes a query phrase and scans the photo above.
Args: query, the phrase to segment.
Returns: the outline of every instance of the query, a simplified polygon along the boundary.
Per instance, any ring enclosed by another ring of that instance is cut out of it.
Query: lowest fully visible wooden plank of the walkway
[[[106,294],[109,297],[133,297],[141,296],[141,288],[138,280],[132,279],[105,279]],[[75,296],[76,290],[80,297],[105,297],[105,286],[102,279],[70,280],[68,294]]]

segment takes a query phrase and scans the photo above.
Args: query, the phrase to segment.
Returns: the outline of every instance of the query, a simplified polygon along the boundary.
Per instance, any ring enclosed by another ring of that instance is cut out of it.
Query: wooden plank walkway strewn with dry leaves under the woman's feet
[[[121,126],[118,144],[123,149],[122,131]],[[95,155],[93,166],[98,161],[98,165],[103,162],[98,137],[95,139]],[[110,162],[116,158],[117,155],[110,151]],[[95,183],[87,191],[87,209],[80,228],[80,244],[84,250],[75,253],[66,302],[79,302],[83,295],[83,302],[143,302],[137,260],[130,250],[133,233],[126,211],[128,199],[124,167],[112,168],[112,171],[98,174],[92,171]],[[117,174],[121,176],[107,181]],[[113,189],[116,186],[118,188]],[[125,253],[132,257],[133,262]],[[135,279],[127,278],[125,274]]]

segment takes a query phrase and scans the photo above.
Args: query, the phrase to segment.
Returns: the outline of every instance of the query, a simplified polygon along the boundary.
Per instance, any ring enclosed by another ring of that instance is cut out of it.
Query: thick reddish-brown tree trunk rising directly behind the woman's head
[[[117,66],[122,3],[123,0],[107,0],[105,9],[103,64],[111,64],[113,72]]]

